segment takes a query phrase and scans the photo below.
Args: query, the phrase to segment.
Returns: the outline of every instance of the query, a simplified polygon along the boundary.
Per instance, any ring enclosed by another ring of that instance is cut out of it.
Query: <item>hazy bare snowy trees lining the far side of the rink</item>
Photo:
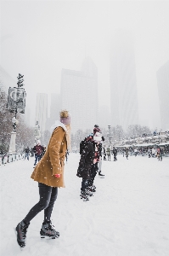
[[[7,153],[10,143],[12,127],[12,118],[14,113],[10,113],[7,109],[7,94],[0,89],[0,153]],[[22,113],[17,113],[17,119],[19,124],[16,128],[16,151],[19,152],[25,147],[32,148],[35,143],[34,128],[29,127],[25,124],[24,116]],[[115,127],[110,127],[109,129],[102,129],[102,134],[105,139],[105,143],[113,143],[115,141],[121,141],[122,139],[129,139],[143,134],[150,134],[151,131],[147,126],[141,125],[130,125],[125,132],[121,125],[116,125]],[[71,148],[79,148],[80,142],[87,137],[91,130],[82,131],[79,129],[76,133],[71,134]],[[41,137],[41,143],[43,145],[48,145],[50,138],[50,132],[44,131]]]

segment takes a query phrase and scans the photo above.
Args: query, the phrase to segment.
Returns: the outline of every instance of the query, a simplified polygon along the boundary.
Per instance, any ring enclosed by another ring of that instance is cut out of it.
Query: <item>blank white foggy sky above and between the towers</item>
[[[168,13],[168,1],[1,1],[1,65],[14,79],[25,75],[33,116],[37,92],[59,92],[61,69],[80,70],[89,55],[99,71],[99,105],[110,106],[110,35],[127,29],[140,121],[160,128],[156,71],[169,60]]]

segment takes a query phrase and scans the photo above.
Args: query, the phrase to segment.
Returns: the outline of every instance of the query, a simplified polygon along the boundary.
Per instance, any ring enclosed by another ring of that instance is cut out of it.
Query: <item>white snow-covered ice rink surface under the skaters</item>
[[[104,178],[97,192],[80,199],[76,177],[79,154],[65,163],[65,189],[59,189],[52,214],[56,240],[41,240],[43,212],[31,221],[26,247],[20,251],[14,227],[38,201],[37,182],[30,176],[34,158],[0,166],[2,256],[168,256],[169,158],[118,155],[103,161]]]

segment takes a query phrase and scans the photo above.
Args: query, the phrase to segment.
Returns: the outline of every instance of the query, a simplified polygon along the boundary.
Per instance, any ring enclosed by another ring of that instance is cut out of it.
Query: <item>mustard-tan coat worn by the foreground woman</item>
[[[37,163],[37,166],[31,174],[31,178],[50,187],[65,188],[64,160],[66,149],[66,131],[59,126],[54,130],[48,143],[46,153]],[[55,177],[54,174],[61,174],[61,176]]]

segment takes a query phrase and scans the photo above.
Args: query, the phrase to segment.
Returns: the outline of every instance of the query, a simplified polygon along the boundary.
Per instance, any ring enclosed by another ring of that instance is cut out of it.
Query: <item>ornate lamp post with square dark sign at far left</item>
[[[7,108],[10,113],[14,113],[14,118],[12,119],[13,124],[13,131],[11,132],[11,138],[10,138],[10,145],[8,149],[8,153],[15,153],[15,140],[16,140],[16,126],[18,125],[19,121],[16,119],[16,115],[18,112],[25,113],[25,89],[21,88],[24,86],[23,79],[24,75],[21,75],[19,73],[19,76],[17,77],[18,87],[8,89],[8,103]]]

